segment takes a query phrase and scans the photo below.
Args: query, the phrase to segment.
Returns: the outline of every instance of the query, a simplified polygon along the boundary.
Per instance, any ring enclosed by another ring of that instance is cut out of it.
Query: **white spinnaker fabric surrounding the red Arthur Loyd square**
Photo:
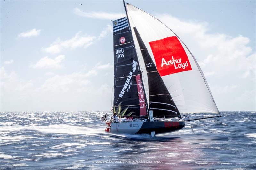
[[[143,80],[148,99],[149,93],[146,68],[145,64],[143,64],[143,58],[138,42],[136,41],[133,27],[136,26],[154,63],[155,59],[149,42],[176,36],[176,34],[158,19],[131,4],[127,4],[127,12],[133,38],[135,39],[135,47],[140,59],[141,70],[143,71]],[[180,113],[219,113],[202,70],[185,44],[179,37],[177,38],[188,56],[192,70],[162,76],[164,84],[170,92],[172,99]]]

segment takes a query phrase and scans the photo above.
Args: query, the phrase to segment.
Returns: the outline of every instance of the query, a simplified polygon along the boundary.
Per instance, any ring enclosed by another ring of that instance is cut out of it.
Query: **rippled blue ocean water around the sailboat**
[[[105,133],[105,113],[1,113],[0,169],[256,169],[255,112],[221,112],[154,138]]]

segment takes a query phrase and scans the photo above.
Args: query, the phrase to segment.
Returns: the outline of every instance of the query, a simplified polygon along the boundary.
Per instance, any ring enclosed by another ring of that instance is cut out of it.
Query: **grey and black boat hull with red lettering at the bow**
[[[169,133],[182,129],[185,126],[184,121],[168,122],[121,122],[111,124],[111,133],[128,133],[128,134],[155,134]]]

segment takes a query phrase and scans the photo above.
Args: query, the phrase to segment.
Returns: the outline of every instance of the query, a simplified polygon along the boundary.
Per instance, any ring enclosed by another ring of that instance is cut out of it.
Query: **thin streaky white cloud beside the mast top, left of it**
[[[115,20],[117,18],[121,18],[122,16],[124,17],[124,14],[122,15],[121,13],[83,12],[79,8],[75,8],[74,13],[82,17],[108,19],[108,20]]]

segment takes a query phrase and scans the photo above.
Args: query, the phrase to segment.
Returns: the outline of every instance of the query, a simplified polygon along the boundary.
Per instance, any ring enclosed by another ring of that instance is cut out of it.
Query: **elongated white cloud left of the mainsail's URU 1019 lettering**
[[[49,47],[43,48],[44,51],[52,54],[59,53],[64,48],[75,49],[77,47],[88,47],[93,44],[95,36],[82,35],[82,32],[79,31],[76,35],[69,40],[60,40],[57,39]]]

